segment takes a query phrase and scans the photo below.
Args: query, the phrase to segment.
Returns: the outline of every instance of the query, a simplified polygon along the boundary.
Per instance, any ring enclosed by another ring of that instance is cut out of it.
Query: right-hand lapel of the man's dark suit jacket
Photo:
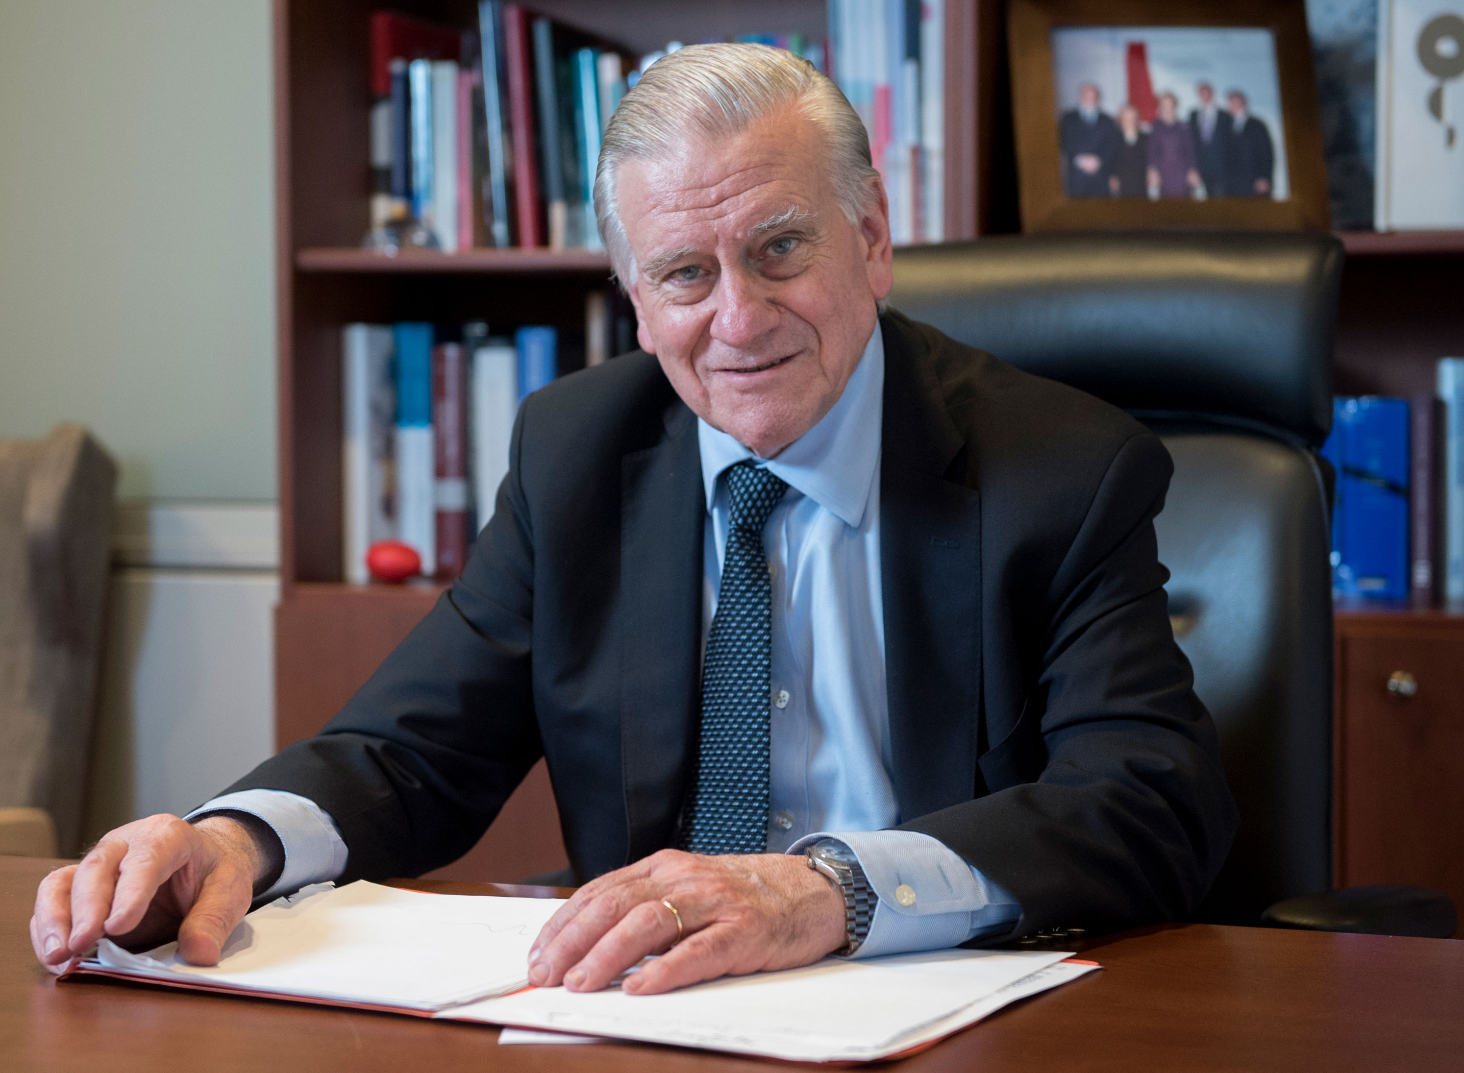
[[[981,725],[981,499],[947,473],[966,444],[930,343],[884,332],[880,569],[895,795],[912,820],[976,793]]]

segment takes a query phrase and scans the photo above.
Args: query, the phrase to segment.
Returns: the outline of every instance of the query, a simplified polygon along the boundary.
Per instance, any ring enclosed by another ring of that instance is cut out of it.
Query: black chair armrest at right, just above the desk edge
[[[1458,913],[1438,890],[1382,883],[1288,897],[1261,913],[1261,922],[1268,928],[1449,938]]]

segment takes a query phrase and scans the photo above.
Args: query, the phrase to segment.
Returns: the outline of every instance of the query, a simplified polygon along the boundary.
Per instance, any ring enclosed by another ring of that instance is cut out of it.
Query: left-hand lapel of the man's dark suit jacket
[[[637,861],[671,845],[700,710],[701,542],[697,420],[621,460],[621,770]]]

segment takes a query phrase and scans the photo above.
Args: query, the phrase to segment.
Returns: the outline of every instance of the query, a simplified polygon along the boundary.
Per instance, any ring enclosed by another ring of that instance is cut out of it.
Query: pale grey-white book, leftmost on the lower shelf
[[[341,574],[366,584],[366,550],[397,536],[392,460],[397,385],[386,325],[348,324],[341,331]]]

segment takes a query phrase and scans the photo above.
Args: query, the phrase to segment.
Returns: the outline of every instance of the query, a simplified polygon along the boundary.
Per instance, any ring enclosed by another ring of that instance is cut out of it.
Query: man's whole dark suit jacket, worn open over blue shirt
[[[903,827],[1010,890],[1020,932],[1183,918],[1236,810],[1167,616],[1168,454],[1089,395],[897,313],[880,325]],[[530,395],[463,577],[318,738],[230,789],[319,802],[347,880],[452,861],[540,754],[578,877],[672,845],[704,523],[697,422],[654,357]]]

